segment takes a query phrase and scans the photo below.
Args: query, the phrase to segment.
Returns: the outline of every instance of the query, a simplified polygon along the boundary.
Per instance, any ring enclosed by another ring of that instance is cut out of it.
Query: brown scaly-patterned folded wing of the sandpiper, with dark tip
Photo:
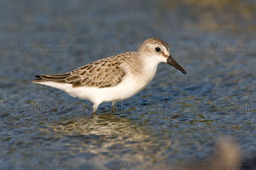
[[[65,74],[37,76],[38,79],[35,80],[39,81],[43,79],[60,83],[70,83],[74,88],[81,86],[113,87],[122,82],[125,76],[125,71],[121,67],[123,59],[120,59],[120,57],[122,56],[116,55],[100,59]]]

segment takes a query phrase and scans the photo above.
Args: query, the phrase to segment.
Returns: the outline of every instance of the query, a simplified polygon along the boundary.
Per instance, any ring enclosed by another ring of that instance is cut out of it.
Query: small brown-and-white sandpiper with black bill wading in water
[[[186,71],[170,56],[166,42],[157,38],[145,40],[137,52],[125,52],[84,65],[76,70],[53,75],[35,76],[32,82],[61,89],[73,97],[93,102],[93,113],[102,102],[127,99],[145,88],[153,79],[160,62],[178,71]]]

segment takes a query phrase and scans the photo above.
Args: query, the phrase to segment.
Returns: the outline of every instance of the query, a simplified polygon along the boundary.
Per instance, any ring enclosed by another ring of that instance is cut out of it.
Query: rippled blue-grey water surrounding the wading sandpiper
[[[18,1],[0,3],[0,169],[24,164],[163,164],[213,161],[220,138],[243,162],[256,158],[256,2],[253,0]],[[181,74],[158,66],[139,94],[92,104],[31,83],[124,51],[108,45],[165,40]],[[73,45],[73,52],[22,52],[19,45]],[[202,45],[254,51],[203,51]],[[201,45],[198,48],[198,45]],[[198,51],[199,50],[199,51]],[[181,169],[181,168],[180,168]]]

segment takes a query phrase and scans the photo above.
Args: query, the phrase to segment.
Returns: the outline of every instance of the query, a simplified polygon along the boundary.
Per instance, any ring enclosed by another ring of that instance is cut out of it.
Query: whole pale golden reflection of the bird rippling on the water
[[[151,154],[163,150],[140,121],[128,118],[132,117],[129,113],[131,112],[122,112],[121,116],[120,113],[109,111],[88,115],[73,113],[76,116],[69,114],[48,125],[47,131],[57,134],[58,146],[62,145],[61,141],[68,142],[63,149],[70,147],[72,150],[79,150],[79,153],[90,156],[90,160],[151,163]],[[145,152],[148,152],[148,155]],[[113,156],[113,153],[116,154]]]

